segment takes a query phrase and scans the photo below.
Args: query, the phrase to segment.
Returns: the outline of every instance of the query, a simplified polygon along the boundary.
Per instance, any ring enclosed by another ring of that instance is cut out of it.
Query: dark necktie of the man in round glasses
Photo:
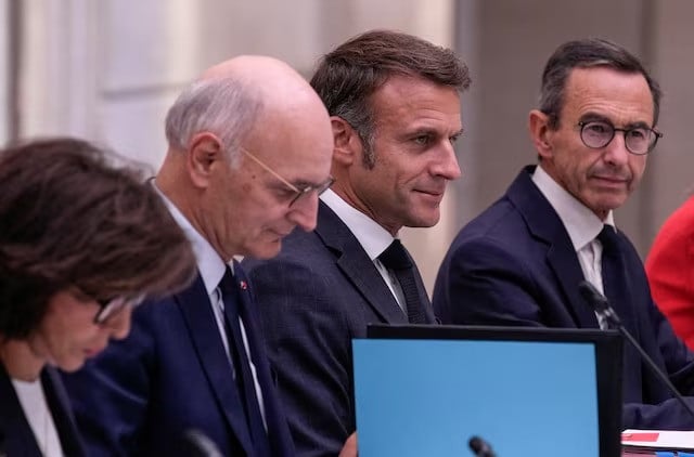
[[[628,306],[628,287],[625,276],[625,263],[621,259],[619,248],[619,236],[612,225],[603,225],[603,230],[597,235],[597,239],[603,245],[602,276],[603,291],[609,304],[621,315],[619,310]]]

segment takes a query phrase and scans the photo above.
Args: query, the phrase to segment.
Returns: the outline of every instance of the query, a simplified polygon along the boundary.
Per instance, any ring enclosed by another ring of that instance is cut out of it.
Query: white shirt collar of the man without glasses
[[[395,239],[376,221],[349,205],[332,190],[325,191],[321,195],[321,200],[347,225],[372,261],[381,256]]]

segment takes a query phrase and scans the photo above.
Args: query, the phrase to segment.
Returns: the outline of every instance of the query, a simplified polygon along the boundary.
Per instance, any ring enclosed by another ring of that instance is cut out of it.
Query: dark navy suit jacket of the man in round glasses
[[[434,309],[444,323],[599,327],[578,293],[583,273],[574,246],[532,183],[534,169],[523,170],[506,194],[453,240],[434,289]],[[639,254],[619,236],[628,248],[624,256],[631,302],[613,306],[672,383],[692,395],[694,356],[656,309]],[[694,428],[694,419],[627,343],[624,401],[625,428]]]

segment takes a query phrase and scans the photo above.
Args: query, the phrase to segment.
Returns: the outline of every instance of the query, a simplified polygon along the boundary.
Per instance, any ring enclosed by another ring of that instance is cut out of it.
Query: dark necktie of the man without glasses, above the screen
[[[424,305],[420,300],[416,287],[414,264],[410,260],[407,249],[399,239],[395,239],[388,248],[378,256],[378,260],[395,273],[400,283],[411,324],[426,324]]]

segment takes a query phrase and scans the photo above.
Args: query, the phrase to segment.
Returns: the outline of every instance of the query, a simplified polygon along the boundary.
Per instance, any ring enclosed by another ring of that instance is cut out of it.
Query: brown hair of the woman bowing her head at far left
[[[133,164],[81,140],[0,152],[0,339],[37,328],[49,300],[159,296],[195,272],[185,235]]]

